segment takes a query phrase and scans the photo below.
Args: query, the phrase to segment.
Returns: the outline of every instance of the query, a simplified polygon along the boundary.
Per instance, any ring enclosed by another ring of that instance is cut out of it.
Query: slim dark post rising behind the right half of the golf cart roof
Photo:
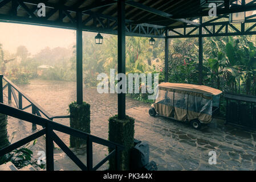
[[[202,24],[202,17],[200,17],[200,24]],[[199,55],[198,55],[198,59],[199,59],[199,64],[198,64],[198,84],[202,85],[203,84],[203,76],[202,76],[202,68],[203,68],[203,38],[202,38],[202,25],[200,25],[199,27]]]

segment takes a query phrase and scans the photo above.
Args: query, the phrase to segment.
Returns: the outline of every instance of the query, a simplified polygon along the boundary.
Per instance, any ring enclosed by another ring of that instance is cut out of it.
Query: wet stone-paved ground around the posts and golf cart
[[[52,115],[67,114],[68,104],[75,100],[74,82],[31,81],[21,86],[33,100]],[[84,89],[85,101],[91,104],[91,133],[97,137],[108,138],[108,118],[117,113],[115,94],[98,94],[95,88]],[[24,104],[26,105],[26,104]],[[202,130],[194,130],[188,124],[164,117],[151,117],[149,104],[127,97],[127,114],[136,119],[135,138],[144,140],[150,146],[150,160],[159,165],[159,170],[255,170],[256,133],[224,125],[224,121],[214,119]],[[69,125],[68,119],[56,122]],[[18,123],[17,123],[18,122]],[[13,141],[31,133],[31,124],[9,119],[9,134],[17,130]],[[69,136],[58,133],[66,144]],[[35,150],[43,150],[40,139]],[[217,164],[208,163],[209,151],[216,151]],[[76,151],[79,158],[86,160],[84,151]],[[107,148],[94,144],[95,162],[107,155]],[[35,154],[34,154],[35,155]],[[61,151],[55,150],[55,159],[64,164],[56,164],[60,169],[78,169],[70,164]],[[104,169],[101,168],[101,169]]]

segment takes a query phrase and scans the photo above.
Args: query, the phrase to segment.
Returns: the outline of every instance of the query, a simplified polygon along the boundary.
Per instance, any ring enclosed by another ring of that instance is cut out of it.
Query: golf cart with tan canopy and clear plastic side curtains
[[[159,84],[158,96],[149,114],[190,122],[194,129],[200,129],[202,123],[212,121],[212,114],[220,105],[221,93],[221,90],[204,85],[163,82]]]

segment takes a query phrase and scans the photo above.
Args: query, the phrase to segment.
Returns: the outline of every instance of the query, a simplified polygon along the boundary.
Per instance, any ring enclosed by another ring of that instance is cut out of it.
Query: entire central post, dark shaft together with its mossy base
[[[125,1],[117,1],[117,52],[118,52],[118,73],[125,76]],[[111,142],[124,146],[123,151],[119,151],[115,158],[109,160],[109,170],[128,171],[130,166],[131,149],[134,142],[134,121],[135,119],[125,115],[125,92],[126,81],[124,77],[119,77],[117,88],[118,93],[118,115],[109,118],[108,139]],[[109,153],[113,148],[109,148]],[[117,162],[118,166],[116,166]]]

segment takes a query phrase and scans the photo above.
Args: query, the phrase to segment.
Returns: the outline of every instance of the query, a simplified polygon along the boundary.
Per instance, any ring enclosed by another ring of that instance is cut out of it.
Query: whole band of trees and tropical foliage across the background
[[[95,33],[83,34],[83,76],[87,86],[96,86],[99,73],[117,72],[117,36],[103,35],[102,45],[95,44]],[[204,84],[226,92],[256,95],[255,36],[204,38]],[[126,38],[126,72],[160,73],[164,78],[164,40],[149,46],[148,38]],[[172,39],[169,50],[169,82],[198,83],[198,39]],[[51,68],[38,75],[39,65]],[[44,48],[30,55],[24,46],[11,55],[0,46],[3,74],[16,83],[27,84],[39,77],[48,80],[76,80],[76,47]],[[144,100],[144,96],[134,96]]]

